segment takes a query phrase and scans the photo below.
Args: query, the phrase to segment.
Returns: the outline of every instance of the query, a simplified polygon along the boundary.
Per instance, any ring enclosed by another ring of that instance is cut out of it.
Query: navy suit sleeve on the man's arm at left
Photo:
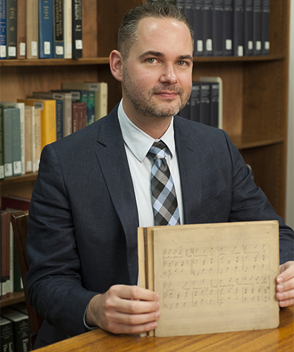
[[[85,332],[85,309],[97,293],[82,287],[71,201],[51,145],[42,151],[32,192],[26,251],[32,306],[66,336]]]

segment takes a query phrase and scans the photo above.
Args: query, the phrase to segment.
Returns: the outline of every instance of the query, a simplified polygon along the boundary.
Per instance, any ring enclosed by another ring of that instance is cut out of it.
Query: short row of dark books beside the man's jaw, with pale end
[[[221,77],[200,77],[200,81],[192,82],[190,99],[178,115],[188,120],[222,128],[222,91]]]

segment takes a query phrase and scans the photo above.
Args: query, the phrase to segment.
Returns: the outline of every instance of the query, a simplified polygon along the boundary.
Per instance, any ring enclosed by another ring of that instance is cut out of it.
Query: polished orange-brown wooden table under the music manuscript
[[[225,332],[185,337],[139,337],[114,335],[101,329],[51,346],[40,352],[293,352],[293,307],[282,308],[277,329]]]

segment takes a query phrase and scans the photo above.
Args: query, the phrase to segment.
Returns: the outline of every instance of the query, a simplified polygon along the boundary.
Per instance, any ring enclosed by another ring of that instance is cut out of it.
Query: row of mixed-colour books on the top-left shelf
[[[82,58],[82,0],[0,0],[0,58]]]

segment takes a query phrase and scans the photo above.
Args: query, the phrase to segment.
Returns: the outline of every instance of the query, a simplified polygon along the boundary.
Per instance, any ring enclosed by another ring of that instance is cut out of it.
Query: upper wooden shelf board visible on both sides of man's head
[[[193,58],[194,62],[245,62],[245,61],[275,61],[283,60],[285,55],[264,56],[203,56]],[[35,60],[1,60],[0,66],[58,66],[58,65],[103,65],[108,64],[109,58],[45,58]]]

